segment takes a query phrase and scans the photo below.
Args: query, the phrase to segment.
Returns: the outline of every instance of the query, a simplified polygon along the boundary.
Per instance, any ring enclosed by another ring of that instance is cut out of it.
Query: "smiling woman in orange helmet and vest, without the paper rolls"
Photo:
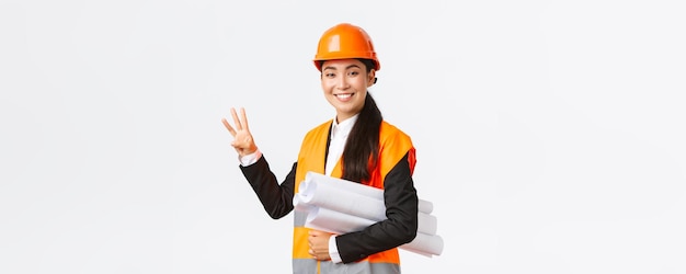
[[[335,117],[310,129],[297,161],[279,184],[250,134],[245,111],[235,125],[224,125],[233,136],[240,169],[274,218],[293,209],[297,183],[309,171],[342,178],[384,190],[387,219],[362,231],[344,235],[306,228],[306,213],[294,214],[294,273],[400,273],[398,247],[416,236],[418,196],[412,173],[415,150],[411,138],[384,121],[367,88],[380,69],[367,33],[342,23],[323,33],[315,57],[321,87]]]

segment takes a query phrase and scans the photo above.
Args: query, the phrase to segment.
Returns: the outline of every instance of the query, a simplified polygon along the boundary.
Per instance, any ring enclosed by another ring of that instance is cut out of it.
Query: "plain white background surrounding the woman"
[[[445,249],[403,273],[685,273],[682,1],[0,1],[0,273],[289,273],[220,123],[283,179],[371,35]]]

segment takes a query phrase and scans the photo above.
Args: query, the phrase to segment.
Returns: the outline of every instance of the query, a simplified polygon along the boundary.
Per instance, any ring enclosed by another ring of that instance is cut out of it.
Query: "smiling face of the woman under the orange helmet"
[[[362,111],[367,88],[374,84],[374,69],[367,73],[357,59],[327,60],[321,65],[321,88],[336,111],[336,121],[345,121]]]

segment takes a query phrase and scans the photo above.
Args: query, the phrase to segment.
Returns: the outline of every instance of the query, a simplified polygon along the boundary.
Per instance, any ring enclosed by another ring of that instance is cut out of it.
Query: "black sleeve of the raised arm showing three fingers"
[[[270,169],[264,155],[255,163],[248,167],[239,165],[239,168],[270,217],[278,219],[293,210],[297,162],[293,163],[290,172],[281,184]]]

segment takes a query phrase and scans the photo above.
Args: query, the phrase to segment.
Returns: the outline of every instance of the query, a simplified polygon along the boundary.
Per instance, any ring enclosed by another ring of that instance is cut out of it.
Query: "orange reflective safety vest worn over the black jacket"
[[[329,128],[332,121],[323,123],[307,133],[298,155],[296,170],[295,193],[298,193],[299,183],[305,180],[308,171],[324,174],[324,159]],[[384,189],[384,179],[393,167],[410,152],[409,161],[411,172],[414,169],[414,147],[409,136],[397,127],[381,122],[379,135],[379,164],[373,170],[370,180],[364,182],[378,189]],[[331,172],[331,176],[341,178],[342,168],[339,160]],[[331,261],[317,261],[308,253],[308,231],[305,227],[307,213],[294,210],[293,231],[293,273],[297,274],[331,274],[331,273],[400,273],[400,256],[398,248],[371,254],[354,263],[332,263]]]

